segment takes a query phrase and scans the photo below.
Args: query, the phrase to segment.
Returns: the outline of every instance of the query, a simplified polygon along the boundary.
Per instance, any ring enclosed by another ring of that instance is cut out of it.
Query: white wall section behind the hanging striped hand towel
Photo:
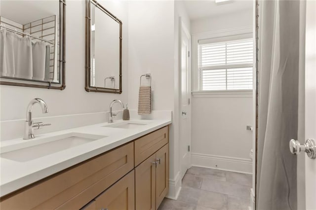
[[[139,78],[152,75],[153,109],[172,110],[169,130],[169,197],[175,198],[179,171],[177,122],[174,121],[174,2],[129,1],[128,3],[128,103],[137,109]],[[146,83],[145,79],[142,80]]]

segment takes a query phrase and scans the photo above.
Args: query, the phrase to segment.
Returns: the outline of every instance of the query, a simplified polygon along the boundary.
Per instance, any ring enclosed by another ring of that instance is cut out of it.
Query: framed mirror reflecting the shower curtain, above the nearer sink
[[[65,0],[0,1],[0,84],[63,90]]]

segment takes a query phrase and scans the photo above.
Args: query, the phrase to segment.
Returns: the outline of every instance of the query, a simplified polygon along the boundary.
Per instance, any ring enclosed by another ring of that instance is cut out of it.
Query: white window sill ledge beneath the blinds
[[[193,98],[252,98],[252,90],[192,91]]]

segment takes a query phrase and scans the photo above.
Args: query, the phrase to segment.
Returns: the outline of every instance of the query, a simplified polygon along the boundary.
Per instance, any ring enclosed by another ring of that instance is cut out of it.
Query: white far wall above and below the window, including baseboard
[[[252,10],[191,21],[192,34],[252,26]],[[193,67],[193,70],[196,68]],[[252,97],[192,99],[192,165],[252,173]]]

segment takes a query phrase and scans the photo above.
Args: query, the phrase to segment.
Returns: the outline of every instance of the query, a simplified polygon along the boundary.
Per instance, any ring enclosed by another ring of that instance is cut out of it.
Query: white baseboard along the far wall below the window
[[[252,174],[252,160],[218,155],[191,154],[192,166],[218,169],[229,172]]]

